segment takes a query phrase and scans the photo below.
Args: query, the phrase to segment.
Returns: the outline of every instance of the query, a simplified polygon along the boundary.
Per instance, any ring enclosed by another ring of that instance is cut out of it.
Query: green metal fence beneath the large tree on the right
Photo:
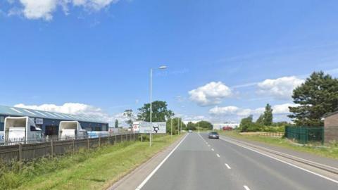
[[[296,140],[301,144],[319,141],[324,143],[324,127],[285,127],[285,137]]]

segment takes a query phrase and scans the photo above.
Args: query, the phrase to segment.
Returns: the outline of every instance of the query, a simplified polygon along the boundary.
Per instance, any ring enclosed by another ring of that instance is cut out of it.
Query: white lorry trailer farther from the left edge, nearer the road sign
[[[78,121],[61,121],[58,126],[58,137],[61,139],[84,139],[87,131],[82,129]]]

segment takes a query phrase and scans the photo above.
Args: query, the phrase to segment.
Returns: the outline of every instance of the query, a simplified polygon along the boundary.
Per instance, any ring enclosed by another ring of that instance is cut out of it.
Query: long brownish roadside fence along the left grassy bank
[[[35,158],[53,157],[65,153],[74,153],[81,148],[97,148],[106,144],[117,144],[123,141],[135,141],[137,133],[108,134],[104,137],[73,139],[42,139],[39,142],[18,141],[11,142],[11,145],[0,146],[0,159],[6,163],[12,161],[29,161]]]

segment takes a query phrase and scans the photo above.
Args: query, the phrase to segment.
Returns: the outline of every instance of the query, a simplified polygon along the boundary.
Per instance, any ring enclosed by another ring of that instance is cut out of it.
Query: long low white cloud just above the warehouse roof
[[[57,106],[55,104],[28,106],[23,103],[19,103],[16,104],[15,107],[66,113],[73,115],[84,115],[87,117],[95,118],[96,120],[101,120],[102,122],[108,122],[109,126],[114,126],[115,119],[118,119],[118,121],[122,124],[125,120],[127,120],[127,118],[123,115],[123,113],[108,115],[108,113],[104,112],[104,110],[102,110],[101,108],[96,108],[95,106],[90,106],[84,103],[64,103],[61,106]]]

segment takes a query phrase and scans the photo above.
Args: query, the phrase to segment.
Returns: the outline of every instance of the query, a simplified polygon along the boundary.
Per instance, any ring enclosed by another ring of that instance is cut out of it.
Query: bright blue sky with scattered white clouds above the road
[[[185,120],[238,121],[266,103],[286,120],[289,94],[311,72],[338,76],[337,8],[337,1],[3,0],[0,104],[82,103],[72,111],[100,108],[118,118],[149,101],[149,69],[167,65],[154,73],[154,99]]]

